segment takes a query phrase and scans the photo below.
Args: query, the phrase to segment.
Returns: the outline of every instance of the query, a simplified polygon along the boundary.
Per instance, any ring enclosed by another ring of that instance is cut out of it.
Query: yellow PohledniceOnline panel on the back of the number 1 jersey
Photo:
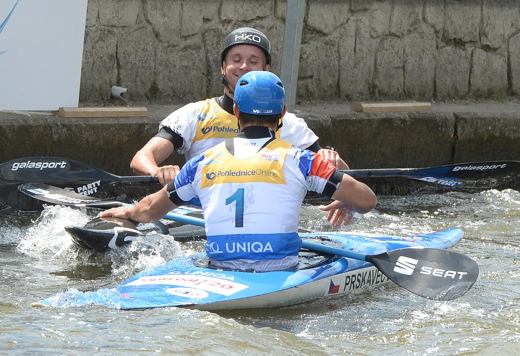
[[[264,182],[285,184],[283,161],[291,144],[282,140],[270,142],[247,159],[231,155],[223,142],[206,152],[202,167],[201,188],[224,183]]]

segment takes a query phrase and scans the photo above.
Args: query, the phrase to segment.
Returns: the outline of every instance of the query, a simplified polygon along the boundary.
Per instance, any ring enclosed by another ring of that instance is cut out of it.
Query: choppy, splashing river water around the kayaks
[[[480,275],[462,298],[436,302],[383,287],[295,306],[217,313],[182,308],[34,308],[68,289],[113,287],[134,273],[201,251],[155,236],[107,254],[76,248],[63,227],[95,211],[0,211],[0,354],[9,355],[516,355],[520,354],[520,193],[423,189],[379,197],[342,230],[409,235],[461,228],[457,252]],[[333,230],[312,203],[301,225]]]

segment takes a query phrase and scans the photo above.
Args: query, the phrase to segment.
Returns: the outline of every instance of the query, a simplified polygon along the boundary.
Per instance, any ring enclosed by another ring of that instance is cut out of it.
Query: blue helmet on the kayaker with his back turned
[[[285,105],[285,89],[276,74],[251,71],[238,80],[235,87],[235,103],[242,113],[281,114]]]

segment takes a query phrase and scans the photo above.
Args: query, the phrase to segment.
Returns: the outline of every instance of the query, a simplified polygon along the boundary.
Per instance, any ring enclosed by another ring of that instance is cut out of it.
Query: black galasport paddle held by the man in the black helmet
[[[520,173],[520,161],[460,163],[430,168],[343,170],[356,178],[407,177],[459,188],[490,188]],[[46,183],[92,195],[118,183],[158,183],[157,176],[118,176],[85,163],[60,157],[29,157],[0,165],[0,197],[22,211],[41,210],[42,204],[19,193],[21,183]]]

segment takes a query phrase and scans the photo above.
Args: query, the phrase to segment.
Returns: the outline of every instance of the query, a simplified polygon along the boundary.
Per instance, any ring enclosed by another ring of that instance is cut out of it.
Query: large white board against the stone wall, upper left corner
[[[0,1],[0,110],[77,107],[87,0]]]

